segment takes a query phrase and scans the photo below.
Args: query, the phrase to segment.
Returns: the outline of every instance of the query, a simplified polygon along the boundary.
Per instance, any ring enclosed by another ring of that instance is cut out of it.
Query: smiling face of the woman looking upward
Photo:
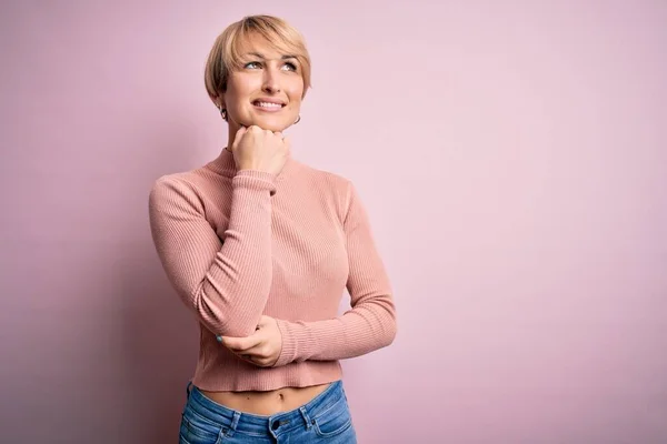
[[[253,37],[241,48],[241,68],[230,73],[221,97],[231,131],[239,124],[283,131],[299,115],[303,78],[295,57]]]

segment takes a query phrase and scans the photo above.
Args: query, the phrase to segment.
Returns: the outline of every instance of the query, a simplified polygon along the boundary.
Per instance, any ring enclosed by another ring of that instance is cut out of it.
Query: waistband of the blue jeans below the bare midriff
[[[287,433],[296,427],[310,428],[312,422],[327,413],[340,398],[346,397],[342,381],[332,382],[322,393],[302,406],[275,415],[255,415],[226,407],[207,397],[191,383],[188,384],[188,407],[198,415],[231,432],[256,436],[270,436]]]

